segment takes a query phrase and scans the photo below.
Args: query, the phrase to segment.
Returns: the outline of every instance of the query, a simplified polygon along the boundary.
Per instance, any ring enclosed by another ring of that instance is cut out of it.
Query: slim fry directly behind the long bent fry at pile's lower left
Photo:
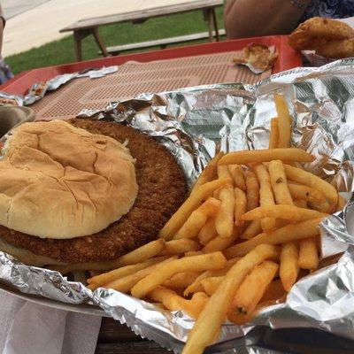
[[[148,266],[147,268],[144,268],[136,273],[132,273],[132,274],[129,274],[123,278],[119,278],[115,281],[108,282],[107,284],[104,284],[104,288],[115,289],[115,290],[118,290],[122,293],[127,293],[128,291],[130,291],[130,289],[132,289],[135,286],[135,284],[138,281],[141,281],[143,278],[148,276],[150,273],[155,272],[160,266],[165,266],[165,265],[173,262],[173,260],[177,260],[177,256],[167,258],[166,260],[164,260],[161,263],[158,263],[153,266]]]

